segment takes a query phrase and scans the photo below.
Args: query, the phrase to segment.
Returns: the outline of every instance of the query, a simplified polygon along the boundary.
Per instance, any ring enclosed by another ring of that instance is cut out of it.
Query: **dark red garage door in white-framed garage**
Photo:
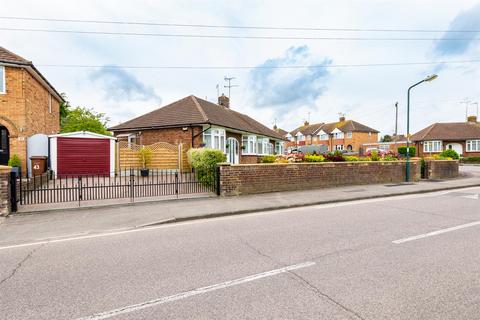
[[[110,139],[57,138],[57,173],[108,175]]]

